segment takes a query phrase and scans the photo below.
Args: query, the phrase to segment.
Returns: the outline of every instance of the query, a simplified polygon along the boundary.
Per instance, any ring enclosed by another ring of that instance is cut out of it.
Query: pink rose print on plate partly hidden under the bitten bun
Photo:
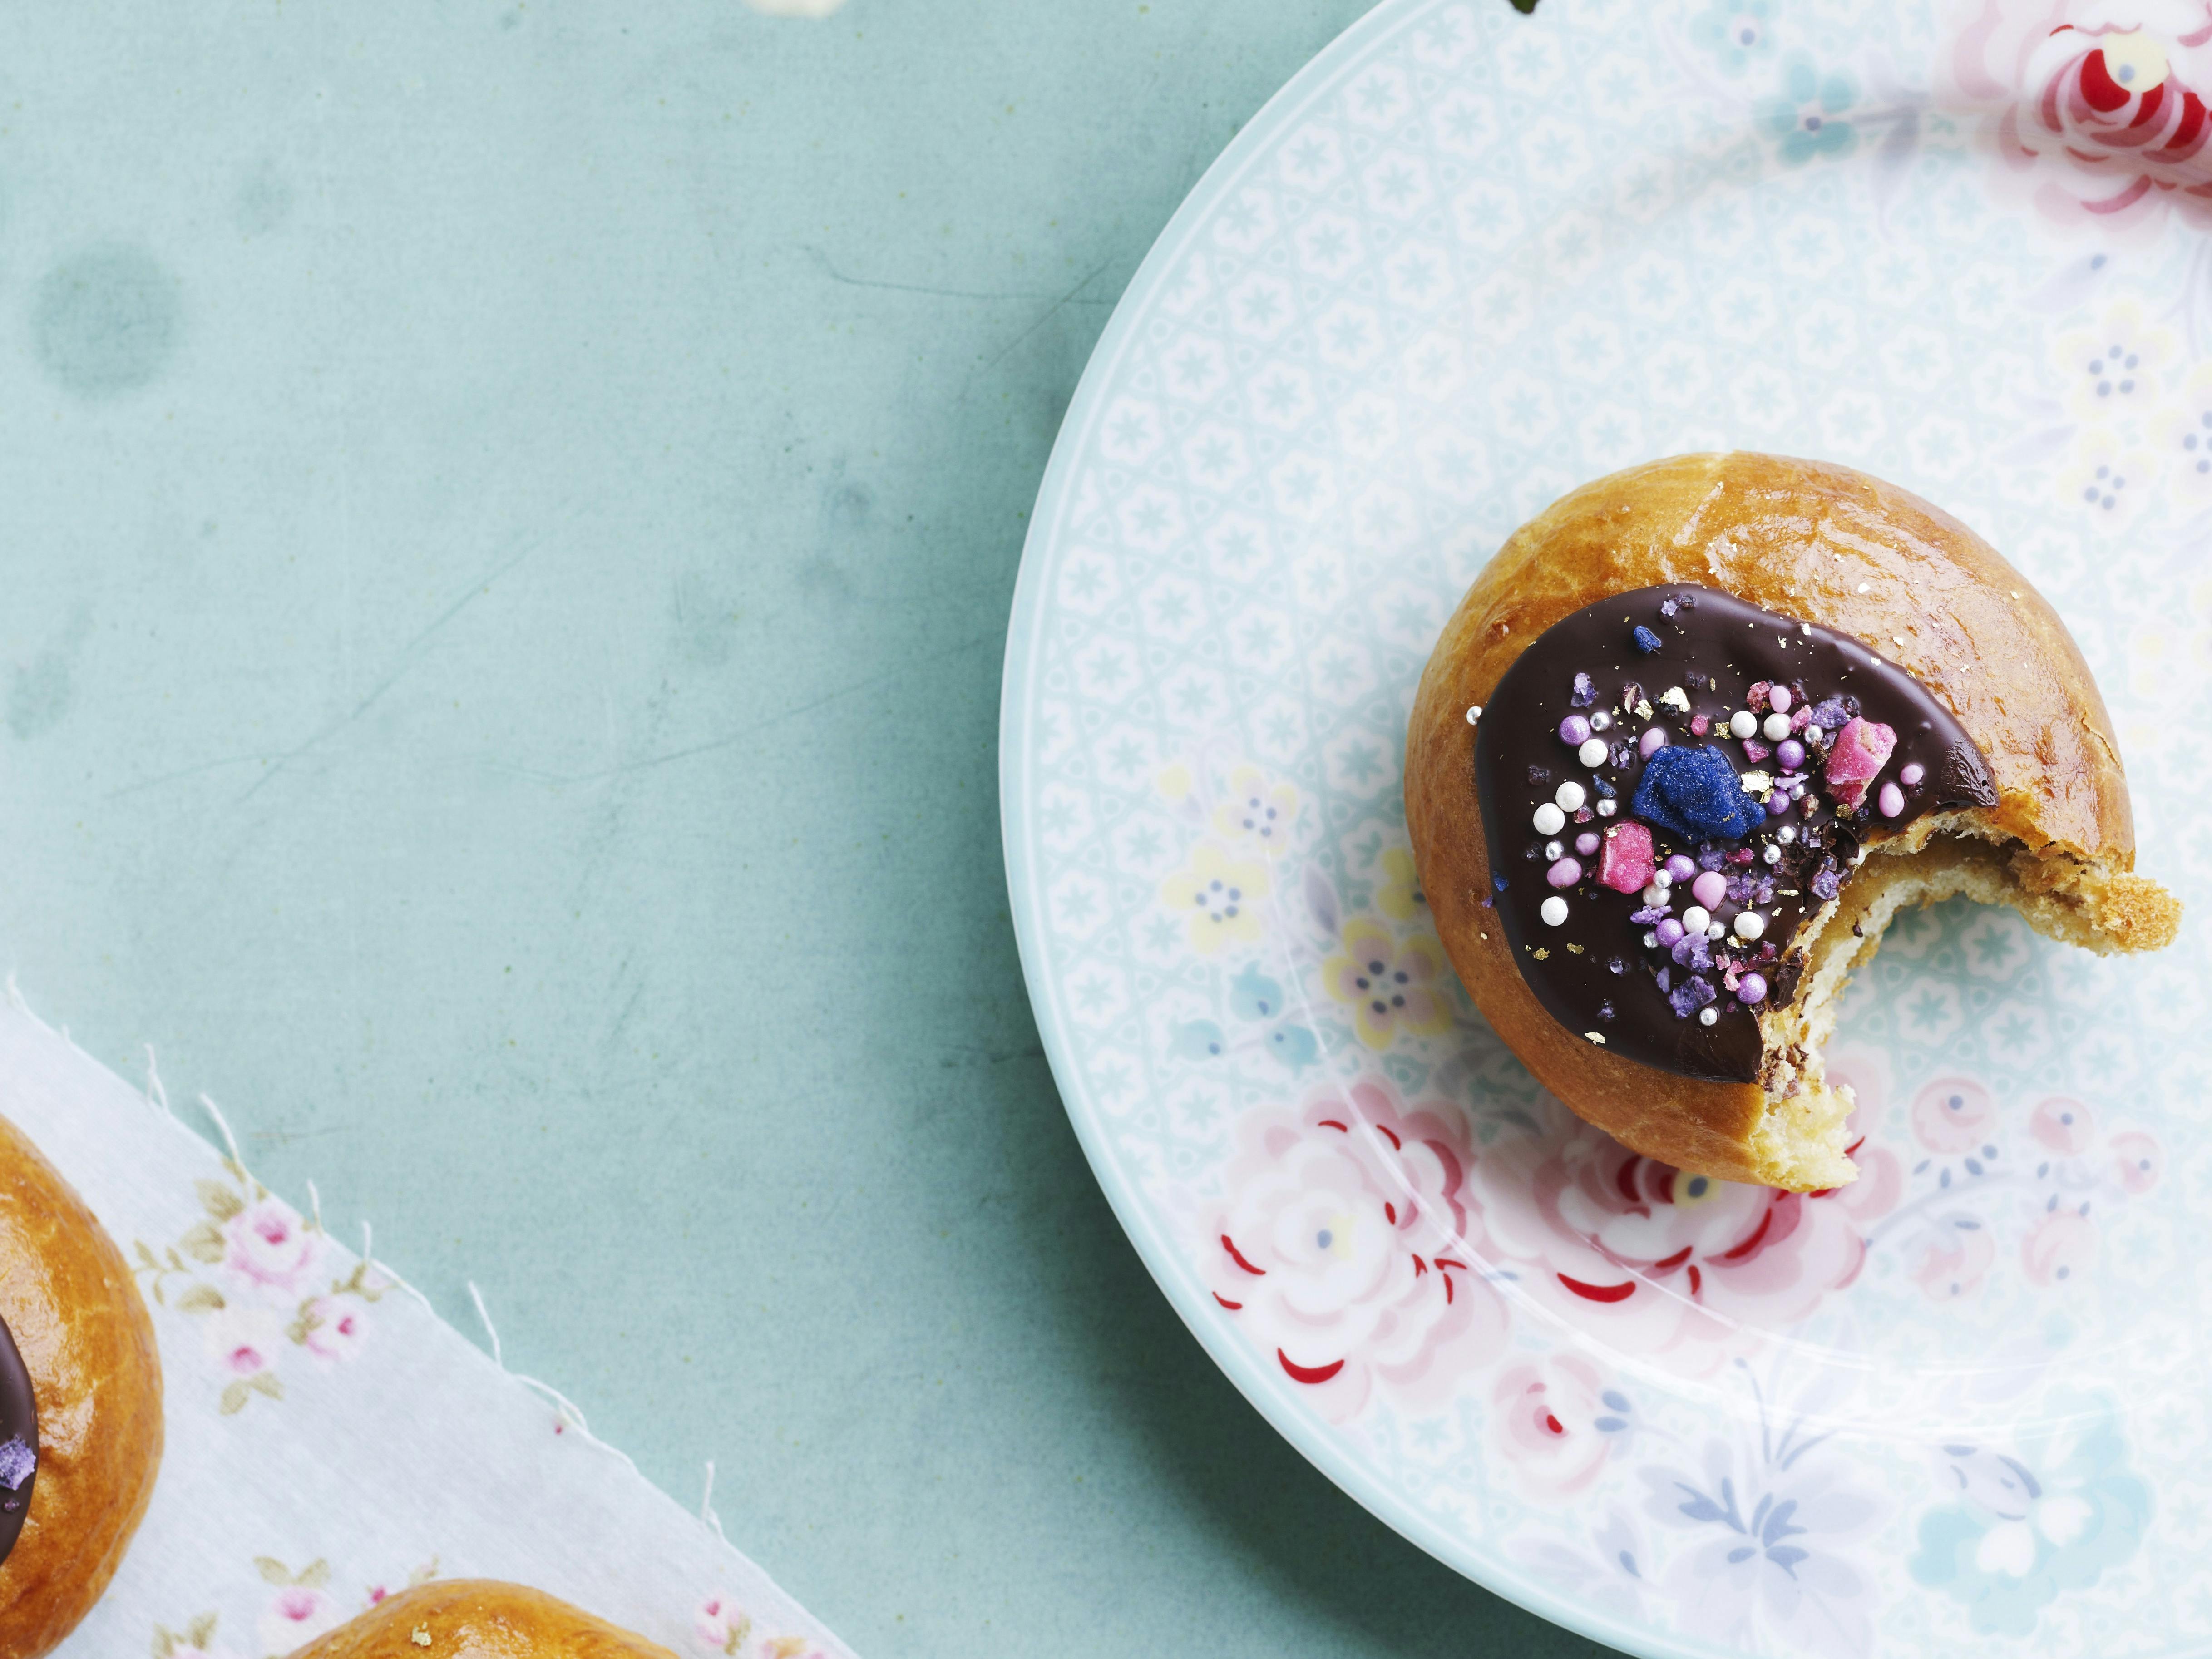
[[[1555,1108],[1548,1133],[1486,1148],[1469,1190],[1522,1290],[1619,1352],[1708,1369],[1739,1332],[1787,1329],[1858,1276],[1860,1225],[1898,1177],[1887,1152],[1851,1152],[1856,1186],[1778,1192],[1639,1157]]]

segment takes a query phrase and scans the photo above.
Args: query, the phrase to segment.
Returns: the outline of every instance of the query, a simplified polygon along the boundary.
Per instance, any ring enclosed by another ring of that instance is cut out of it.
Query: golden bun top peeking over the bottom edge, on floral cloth
[[[429,1646],[416,1641],[416,1632]],[[675,1659],[544,1590],[493,1579],[420,1584],[385,1597],[292,1659]]]

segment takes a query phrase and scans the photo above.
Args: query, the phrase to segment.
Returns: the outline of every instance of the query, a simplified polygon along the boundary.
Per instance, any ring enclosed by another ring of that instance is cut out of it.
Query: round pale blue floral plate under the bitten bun
[[[1206,177],[1068,411],[1004,830],[1097,1177],[1336,1482],[1632,1652],[2212,1650],[2197,88],[2208,0],[1387,0]],[[1832,1048],[1860,1177],[1814,1197],[1537,1088],[1400,812],[1506,531],[1730,445],[2006,549],[2197,907],[2137,962],[1905,918]]]

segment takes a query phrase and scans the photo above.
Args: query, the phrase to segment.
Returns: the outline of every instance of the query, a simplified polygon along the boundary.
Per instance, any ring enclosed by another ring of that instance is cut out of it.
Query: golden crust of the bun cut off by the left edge
[[[161,1358],[122,1252],[0,1119],[0,1321],[38,1396],[38,1484],[0,1564],[0,1659],[66,1637],[115,1577],[161,1467]]]

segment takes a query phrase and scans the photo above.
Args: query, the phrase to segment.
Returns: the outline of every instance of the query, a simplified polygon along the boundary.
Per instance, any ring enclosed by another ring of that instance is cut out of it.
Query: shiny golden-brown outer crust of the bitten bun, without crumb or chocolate
[[[1405,807],[1422,891],[1482,1015],[1546,1088],[1639,1152],[1759,1181],[1745,1150],[1765,1108],[1756,1084],[1677,1077],[1562,1029],[1482,909],[1469,703],[1489,701],[1551,624],[1663,582],[1858,635],[1918,675],[1989,757],[1995,832],[2128,872],[2135,825],[2112,721],[2057,613],[1973,531],[1896,484],[1778,456],[1677,456],[1584,484],[1515,531],[1444,624],[1413,701]],[[2172,900],[2143,887],[2170,938]]]

